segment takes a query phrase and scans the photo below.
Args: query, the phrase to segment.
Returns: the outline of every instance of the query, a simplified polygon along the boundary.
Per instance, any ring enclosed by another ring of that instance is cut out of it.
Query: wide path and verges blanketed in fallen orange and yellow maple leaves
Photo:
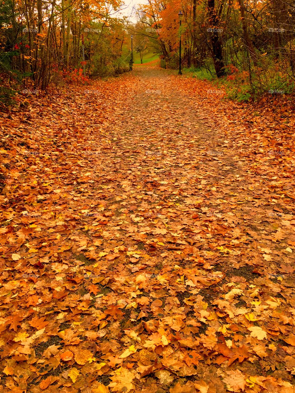
[[[294,392],[293,124],[153,64],[6,114],[0,391]]]

